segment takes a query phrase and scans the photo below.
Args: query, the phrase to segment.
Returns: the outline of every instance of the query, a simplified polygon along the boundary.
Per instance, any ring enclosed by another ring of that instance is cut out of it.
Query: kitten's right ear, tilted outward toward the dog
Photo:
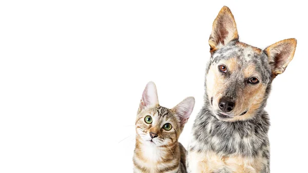
[[[176,114],[180,117],[181,125],[184,125],[188,121],[192,110],[194,110],[194,106],[195,98],[188,97],[179,103],[176,107],[172,108],[172,111],[176,112]]]

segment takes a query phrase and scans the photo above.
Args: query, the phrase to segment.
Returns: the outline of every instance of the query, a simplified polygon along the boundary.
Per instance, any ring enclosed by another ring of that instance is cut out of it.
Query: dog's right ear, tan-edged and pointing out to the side
[[[268,63],[272,67],[273,79],[283,73],[288,63],[293,59],[296,43],[296,39],[286,39],[265,48]]]

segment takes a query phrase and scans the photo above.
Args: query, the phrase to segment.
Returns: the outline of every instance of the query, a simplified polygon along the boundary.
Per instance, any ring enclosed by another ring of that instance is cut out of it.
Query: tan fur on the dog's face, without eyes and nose
[[[226,73],[219,70],[218,66],[221,64],[226,66]],[[258,84],[248,83],[248,79],[253,77],[259,80]],[[234,83],[238,83],[236,88],[230,88]],[[232,111],[224,113],[233,118],[223,120],[246,120],[251,118],[256,110],[261,106],[266,85],[262,83],[260,74],[256,71],[253,63],[241,65],[239,59],[232,57],[211,65],[208,74],[206,75],[206,92],[209,101],[213,97],[212,107],[214,113],[222,112],[218,106],[219,101],[222,97],[226,97],[226,92],[230,89],[236,92],[236,97],[234,98],[235,107]],[[240,116],[245,111],[247,112]]]

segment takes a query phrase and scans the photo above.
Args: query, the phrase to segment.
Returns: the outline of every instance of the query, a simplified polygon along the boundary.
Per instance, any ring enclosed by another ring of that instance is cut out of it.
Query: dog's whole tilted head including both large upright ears
[[[293,59],[296,40],[283,40],[265,50],[241,43],[231,11],[223,7],[209,45],[208,103],[218,119],[237,121],[253,117],[265,105],[272,80]]]

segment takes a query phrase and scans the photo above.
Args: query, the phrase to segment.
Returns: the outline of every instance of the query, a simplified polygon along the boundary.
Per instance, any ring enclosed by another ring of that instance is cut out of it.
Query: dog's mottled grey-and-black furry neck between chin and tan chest
[[[205,102],[192,129],[196,149],[255,156],[268,144],[269,118],[263,109],[246,121],[226,122],[218,120],[208,106]]]

